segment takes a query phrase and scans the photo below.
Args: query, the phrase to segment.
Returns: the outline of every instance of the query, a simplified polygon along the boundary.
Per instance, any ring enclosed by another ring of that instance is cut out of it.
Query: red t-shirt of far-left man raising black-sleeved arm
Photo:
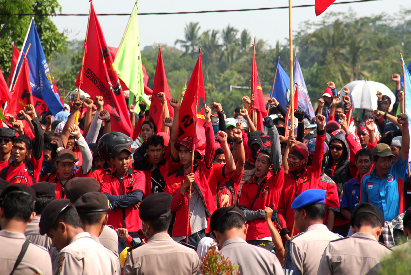
[[[43,154],[39,160],[35,160],[34,157],[30,158],[30,162],[33,165],[34,180],[37,183],[39,182],[40,171],[42,169]],[[33,179],[27,171],[25,161],[23,161],[23,163],[19,166],[10,165],[5,180],[9,183],[23,183],[27,186],[33,185]]]

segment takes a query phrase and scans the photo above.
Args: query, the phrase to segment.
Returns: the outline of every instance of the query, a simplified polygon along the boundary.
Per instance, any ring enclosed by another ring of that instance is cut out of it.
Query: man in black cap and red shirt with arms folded
[[[138,231],[141,229],[138,205],[146,189],[146,177],[142,171],[130,168],[131,150],[126,144],[116,145],[111,152],[111,162],[116,171],[105,174],[101,182],[100,192],[107,195],[110,201],[107,225],[114,229],[126,228],[131,237],[140,241]],[[119,251],[126,244],[119,240]]]

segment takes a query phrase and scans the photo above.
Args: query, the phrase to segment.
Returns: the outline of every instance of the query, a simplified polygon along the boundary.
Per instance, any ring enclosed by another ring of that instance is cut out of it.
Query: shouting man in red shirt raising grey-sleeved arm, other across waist
[[[243,185],[238,205],[247,220],[246,241],[271,251],[274,245],[265,221],[265,207],[277,209],[284,170],[277,128],[271,118],[264,118],[263,123],[268,128],[271,147],[261,148],[256,159],[256,174],[250,183]]]

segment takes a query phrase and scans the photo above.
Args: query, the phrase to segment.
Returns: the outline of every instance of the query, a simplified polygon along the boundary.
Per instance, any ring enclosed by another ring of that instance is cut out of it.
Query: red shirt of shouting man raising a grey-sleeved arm
[[[250,183],[244,184],[241,189],[240,200],[238,205],[243,205],[247,209],[257,211],[259,209],[265,209],[265,207],[272,206],[273,209],[277,209],[278,201],[280,200],[281,191],[284,185],[284,168],[281,167],[277,175],[273,172],[268,172],[264,181],[260,184],[264,184],[256,201],[253,204],[254,198],[257,196],[259,184],[256,184],[257,177],[254,176]],[[252,205],[253,204],[253,205]],[[248,230],[246,240],[256,240],[271,236],[270,229],[264,218],[254,221],[247,221]]]

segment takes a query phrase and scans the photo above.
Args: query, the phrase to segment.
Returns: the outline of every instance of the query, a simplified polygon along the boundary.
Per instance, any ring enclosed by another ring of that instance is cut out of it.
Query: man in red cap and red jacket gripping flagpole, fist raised
[[[172,237],[175,241],[182,241],[187,234],[187,213],[189,213],[189,237],[188,243],[197,247],[199,241],[205,237],[205,233],[210,232],[208,222],[212,213],[216,209],[215,200],[208,186],[208,178],[211,172],[212,160],[214,157],[214,132],[211,125],[211,109],[205,105],[205,155],[202,158],[199,152],[194,152],[193,172],[192,150],[193,137],[183,137],[177,143],[178,135],[178,111],[179,102],[177,99],[170,100],[174,107],[174,121],[171,131],[171,158],[174,162],[180,161],[178,170],[171,172],[167,179],[165,192],[173,196],[171,202],[171,212],[173,212],[173,225],[171,228]],[[189,186],[192,183],[191,203],[188,205]]]

